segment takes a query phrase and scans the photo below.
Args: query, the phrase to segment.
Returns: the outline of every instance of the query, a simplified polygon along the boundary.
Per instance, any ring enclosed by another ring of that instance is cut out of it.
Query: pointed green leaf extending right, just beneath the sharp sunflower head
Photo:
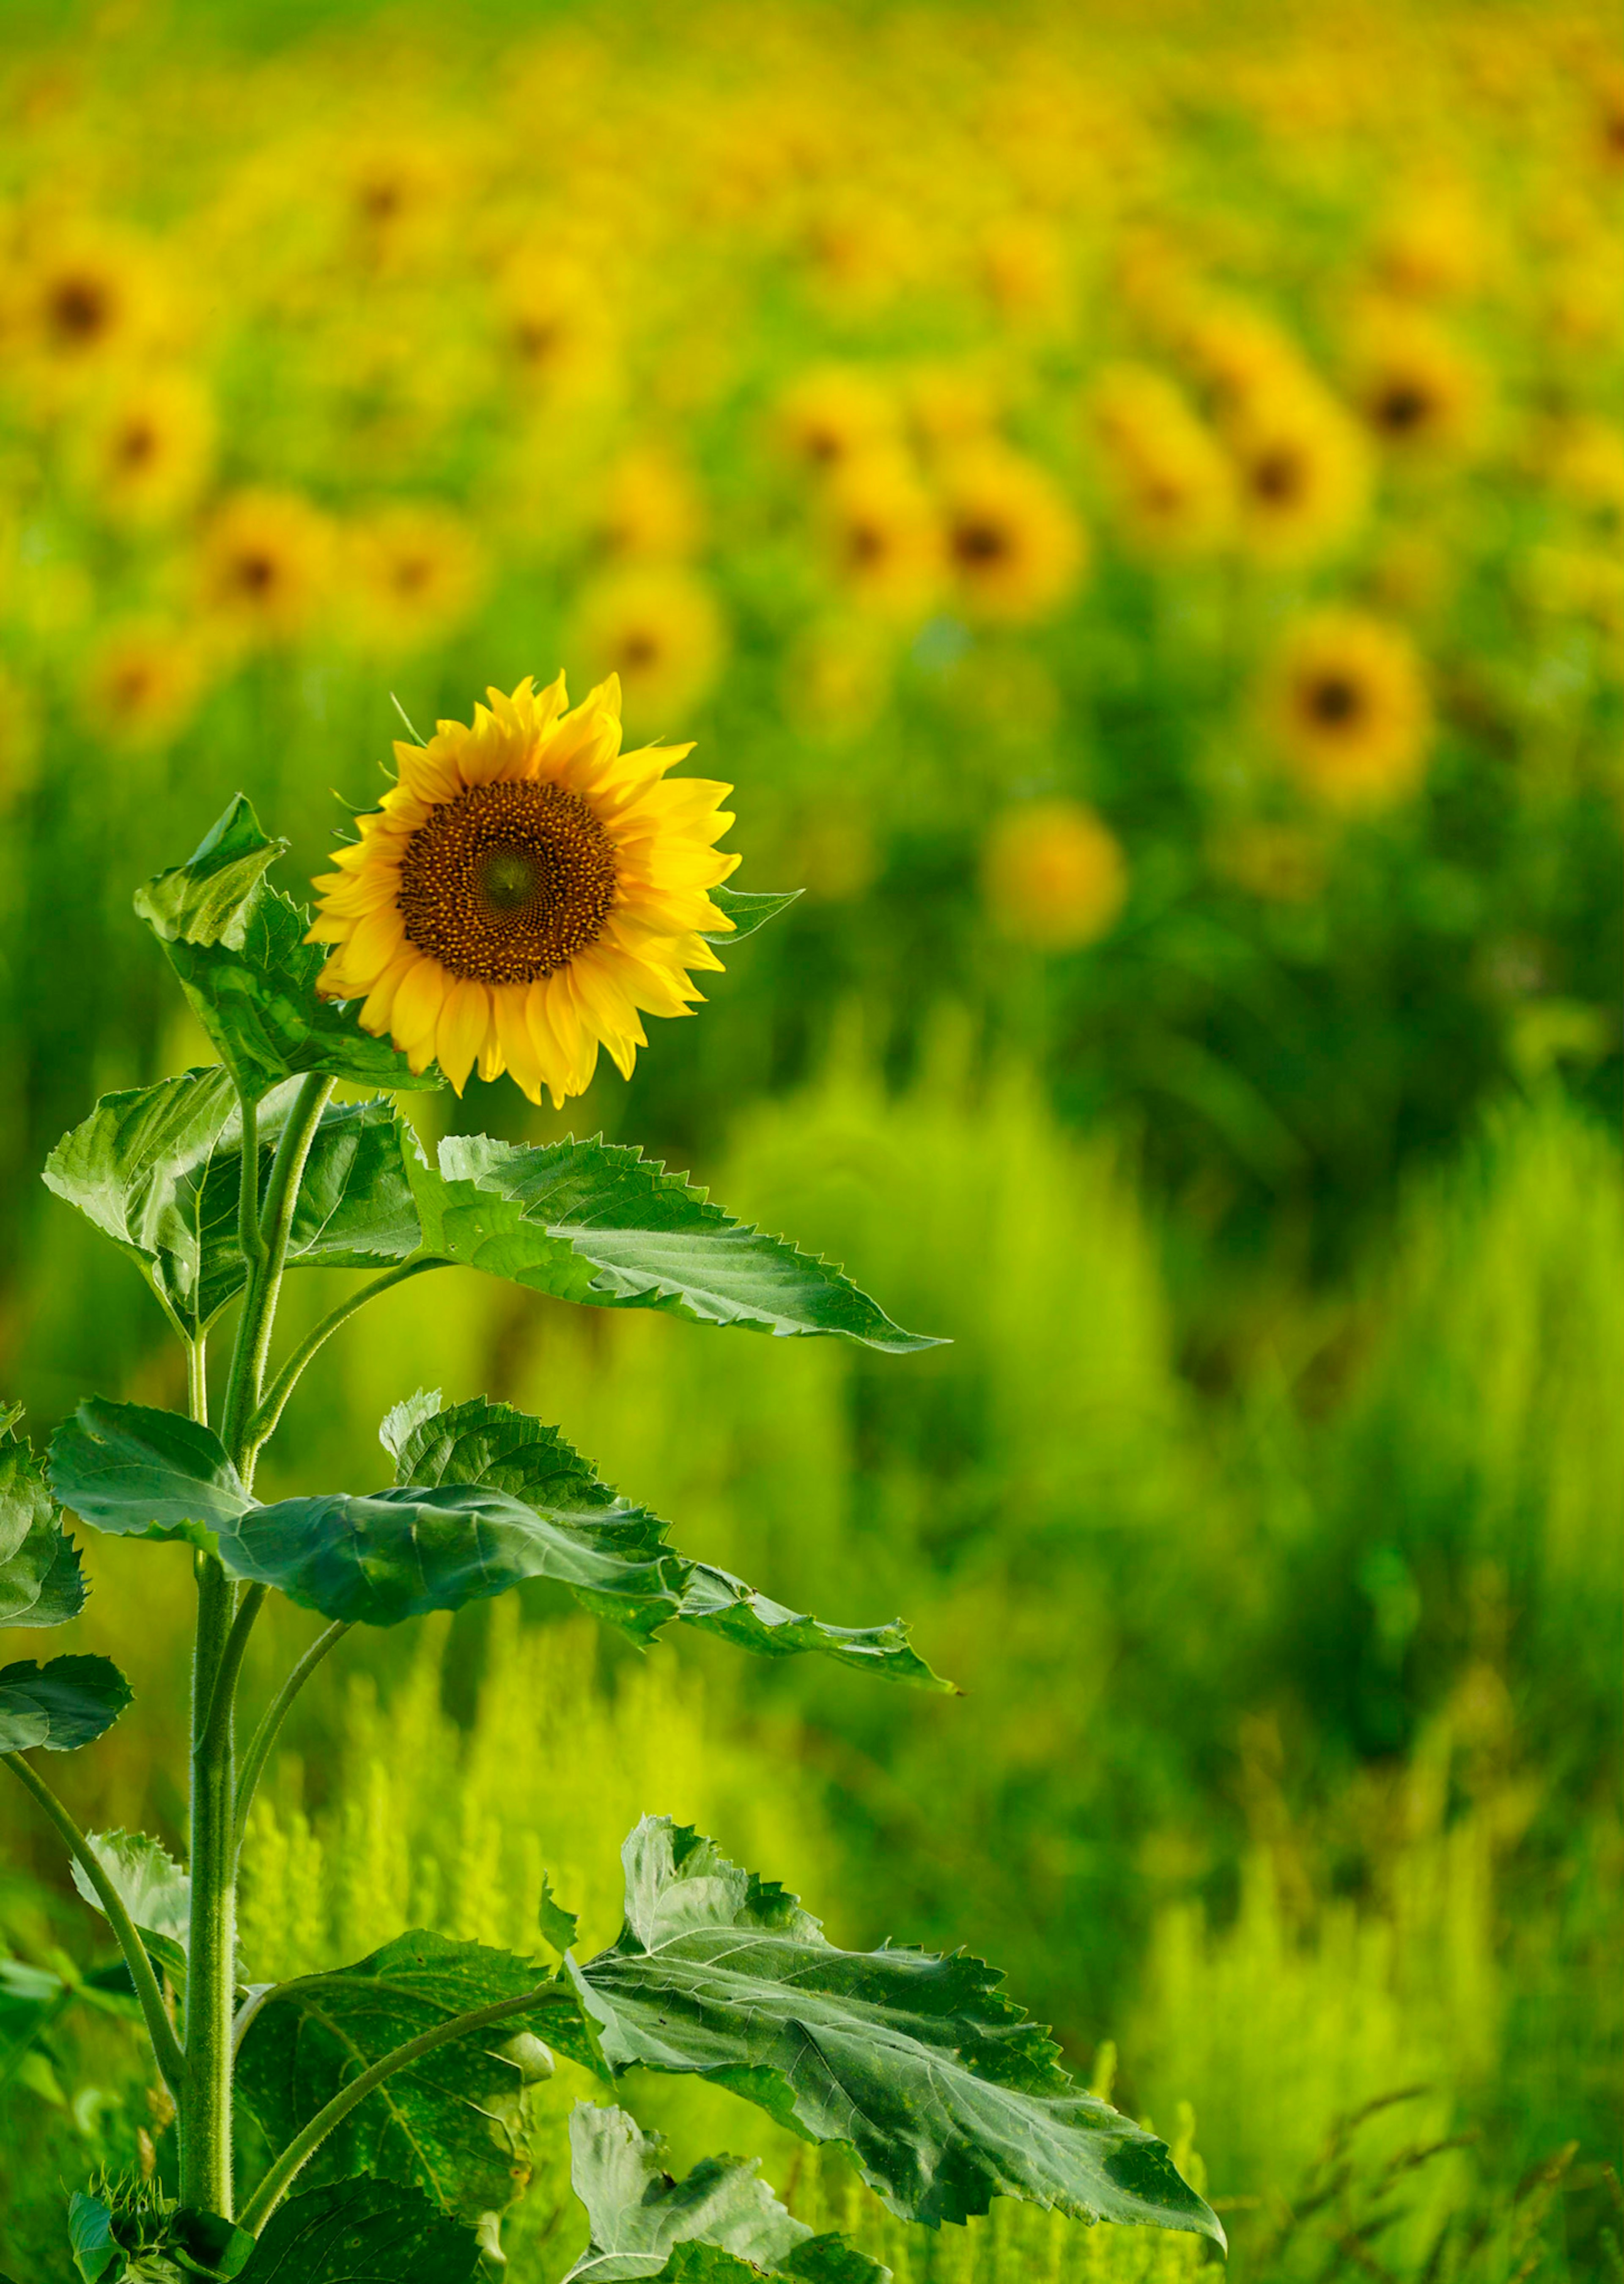
[[[635,1149],[448,1135],[439,1167],[409,1142],[407,1172],[425,1254],[532,1293],[594,1309],[667,1309],[692,1325],[834,1332],[895,1354],[939,1345],[893,1325],[827,1261],[735,1222]]]

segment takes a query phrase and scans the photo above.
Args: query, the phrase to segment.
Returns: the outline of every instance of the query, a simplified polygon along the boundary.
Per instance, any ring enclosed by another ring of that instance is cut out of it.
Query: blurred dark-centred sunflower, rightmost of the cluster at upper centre
[[[1026,626],[1067,601],[1087,560],[1083,525],[1037,461],[1003,445],[941,468],[948,569],[973,619]]]

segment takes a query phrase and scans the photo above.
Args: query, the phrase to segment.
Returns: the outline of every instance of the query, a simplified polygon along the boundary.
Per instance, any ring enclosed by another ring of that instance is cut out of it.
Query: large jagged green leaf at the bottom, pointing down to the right
[[[850,2145],[909,2220],[1003,2195],[1224,2241],[1167,2147],[1074,2085],[980,1960],[836,1951],[795,1896],[669,1818],[644,1818],[624,1864],[614,1948],[566,1962],[612,2069],[692,2072]]]

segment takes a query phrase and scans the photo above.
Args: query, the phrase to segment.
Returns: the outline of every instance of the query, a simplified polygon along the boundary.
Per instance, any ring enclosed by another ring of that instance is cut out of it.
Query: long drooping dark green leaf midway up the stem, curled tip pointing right
[[[827,1626],[665,1544],[555,1427],[475,1398],[397,1405],[379,1437],[395,1487],[368,1498],[283,1498],[251,1507],[219,1553],[242,1578],[324,1617],[393,1626],[459,1610],[523,1578],[555,1578],[582,1608],[649,1642],[672,1617],[763,1656],[818,1651],[893,1681],[948,1688],[907,1626]]]

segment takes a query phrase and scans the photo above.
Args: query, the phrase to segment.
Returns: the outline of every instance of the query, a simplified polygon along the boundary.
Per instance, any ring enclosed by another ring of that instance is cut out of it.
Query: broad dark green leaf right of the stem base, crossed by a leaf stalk
[[[238,2090],[267,2149],[283,2149],[395,2046],[528,1992],[532,2008],[386,2078],[311,2161],[322,2179],[365,2172],[411,2184],[468,2218],[498,2211],[530,2177],[528,2085],[541,2074],[534,2040],[596,2067],[573,1992],[532,1960],[413,1930],[354,1967],[286,1983],[249,2021]]]

